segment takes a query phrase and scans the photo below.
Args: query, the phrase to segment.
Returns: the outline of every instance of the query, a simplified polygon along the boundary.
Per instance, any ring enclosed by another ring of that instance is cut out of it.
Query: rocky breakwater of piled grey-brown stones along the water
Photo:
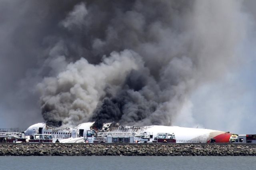
[[[256,156],[256,145],[0,144],[0,156]]]

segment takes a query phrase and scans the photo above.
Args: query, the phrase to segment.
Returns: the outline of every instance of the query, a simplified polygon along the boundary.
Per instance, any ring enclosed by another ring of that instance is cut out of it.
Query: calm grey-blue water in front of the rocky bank
[[[250,156],[0,156],[0,170],[244,170]]]

